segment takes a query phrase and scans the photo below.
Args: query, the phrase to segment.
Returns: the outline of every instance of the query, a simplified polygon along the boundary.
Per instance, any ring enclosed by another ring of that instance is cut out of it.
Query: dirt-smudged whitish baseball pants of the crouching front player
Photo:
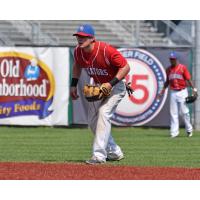
[[[105,161],[108,156],[123,154],[111,135],[111,117],[125,94],[125,84],[120,81],[113,87],[108,98],[89,103],[88,124],[94,133],[93,156],[98,160]]]

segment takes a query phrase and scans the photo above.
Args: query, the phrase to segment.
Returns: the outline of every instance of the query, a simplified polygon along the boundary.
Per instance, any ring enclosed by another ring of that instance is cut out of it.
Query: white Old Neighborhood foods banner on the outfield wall
[[[68,125],[69,49],[0,48],[0,124]]]

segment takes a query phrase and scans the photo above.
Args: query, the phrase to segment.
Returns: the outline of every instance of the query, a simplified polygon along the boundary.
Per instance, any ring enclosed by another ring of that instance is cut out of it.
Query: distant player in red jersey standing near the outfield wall
[[[171,52],[169,55],[171,66],[166,70],[167,80],[161,90],[160,96],[165,92],[165,89],[170,88],[170,134],[172,138],[179,135],[179,112],[185,123],[185,130],[188,137],[192,136],[192,125],[190,122],[189,109],[185,103],[185,98],[188,96],[187,85],[192,88],[193,92],[197,92],[191,81],[191,75],[187,67],[178,63],[176,52]]]

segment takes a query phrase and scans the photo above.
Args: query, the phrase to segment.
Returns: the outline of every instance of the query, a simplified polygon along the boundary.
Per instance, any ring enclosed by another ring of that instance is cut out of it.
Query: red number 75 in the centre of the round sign
[[[130,75],[126,76],[126,82],[131,81],[131,87],[133,88],[134,91],[141,90],[143,92],[143,96],[140,98],[135,97],[134,95],[131,95],[129,98],[130,100],[135,103],[135,104],[143,104],[147,101],[149,97],[149,91],[145,85],[142,85],[141,83],[139,84],[138,82],[140,80],[148,80],[148,75],[140,75],[140,74],[134,74],[131,76],[130,80]]]

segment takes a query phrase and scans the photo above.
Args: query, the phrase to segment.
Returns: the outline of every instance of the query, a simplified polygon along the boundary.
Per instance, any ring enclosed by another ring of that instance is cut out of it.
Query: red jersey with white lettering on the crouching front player
[[[106,83],[111,81],[120,68],[126,66],[126,59],[112,46],[95,41],[92,52],[84,52],[80,47],[74,50],[75,62],[85,68],[88,75],[96,83]]]

